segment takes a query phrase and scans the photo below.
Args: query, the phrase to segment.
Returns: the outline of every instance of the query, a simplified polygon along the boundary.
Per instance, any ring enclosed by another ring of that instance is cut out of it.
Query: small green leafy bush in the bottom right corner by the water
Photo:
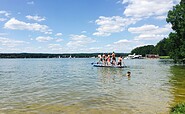
[[[177,104],[171,109],[170,114],[185,114],[185,103]]]

